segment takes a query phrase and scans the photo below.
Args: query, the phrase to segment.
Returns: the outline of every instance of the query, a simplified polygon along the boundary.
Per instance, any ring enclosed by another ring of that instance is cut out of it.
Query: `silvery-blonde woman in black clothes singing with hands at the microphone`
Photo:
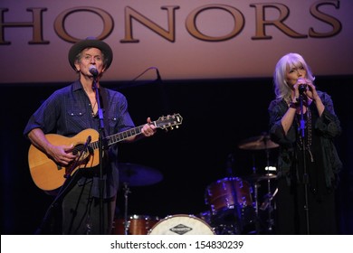
[[[342,167],[334,145],[341,133],[330,96],[317,90],[308,63],[288,53],[273,73],[270,135],[280,145],[277,234],[337,234],[334,191]]]

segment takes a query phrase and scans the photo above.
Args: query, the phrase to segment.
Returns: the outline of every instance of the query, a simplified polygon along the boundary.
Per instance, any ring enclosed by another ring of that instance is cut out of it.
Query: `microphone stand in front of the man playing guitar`
[[[92,80],[92,89],[96,93],[96,101],[98,107],[98,117],[100,119],[99,126],[99,162],[100,162],[100,180],[99,180],[99,189],[100,189],[100,234],[103,234],[104,231],[104,210],[103,210],[103,189],[104,189],[104,179],[103,179],[103,140],[104,140],[104,118],[103,111],[100,106],[100,90],[97,87],[97,75],[93,75]]]

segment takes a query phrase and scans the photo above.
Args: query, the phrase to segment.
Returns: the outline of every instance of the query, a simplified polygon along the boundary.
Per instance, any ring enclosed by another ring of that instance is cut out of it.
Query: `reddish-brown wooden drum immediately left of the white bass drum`
[[[157,222],[158,217],[149,215],[131,215],[128,220],[129,235],[147,235]],[[114,220],[113,235],[125,235],[125,219],[120,218]]]

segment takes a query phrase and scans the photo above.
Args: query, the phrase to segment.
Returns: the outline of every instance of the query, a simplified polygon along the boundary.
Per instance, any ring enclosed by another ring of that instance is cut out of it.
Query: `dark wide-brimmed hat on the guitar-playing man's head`
[[[97,40],[95,37],[87,37],[86,40],[73,44],[72,48],[69,51],[69,62],[73,70],[76,71],[76,56],[85,48],[92,47],[100,49],[100,51],[104,54],[104,61],[106,62],[105,69],[107,70],[110,67],[111,61],[113,61],[113,52],[110,48],[110,45],[106,42]]]

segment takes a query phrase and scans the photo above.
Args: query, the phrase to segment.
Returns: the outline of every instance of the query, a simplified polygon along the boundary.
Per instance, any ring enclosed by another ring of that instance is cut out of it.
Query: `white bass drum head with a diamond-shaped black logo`
[[[194,215],[176,214],[159,220],[148,235],[215,235],[215,231]]]

